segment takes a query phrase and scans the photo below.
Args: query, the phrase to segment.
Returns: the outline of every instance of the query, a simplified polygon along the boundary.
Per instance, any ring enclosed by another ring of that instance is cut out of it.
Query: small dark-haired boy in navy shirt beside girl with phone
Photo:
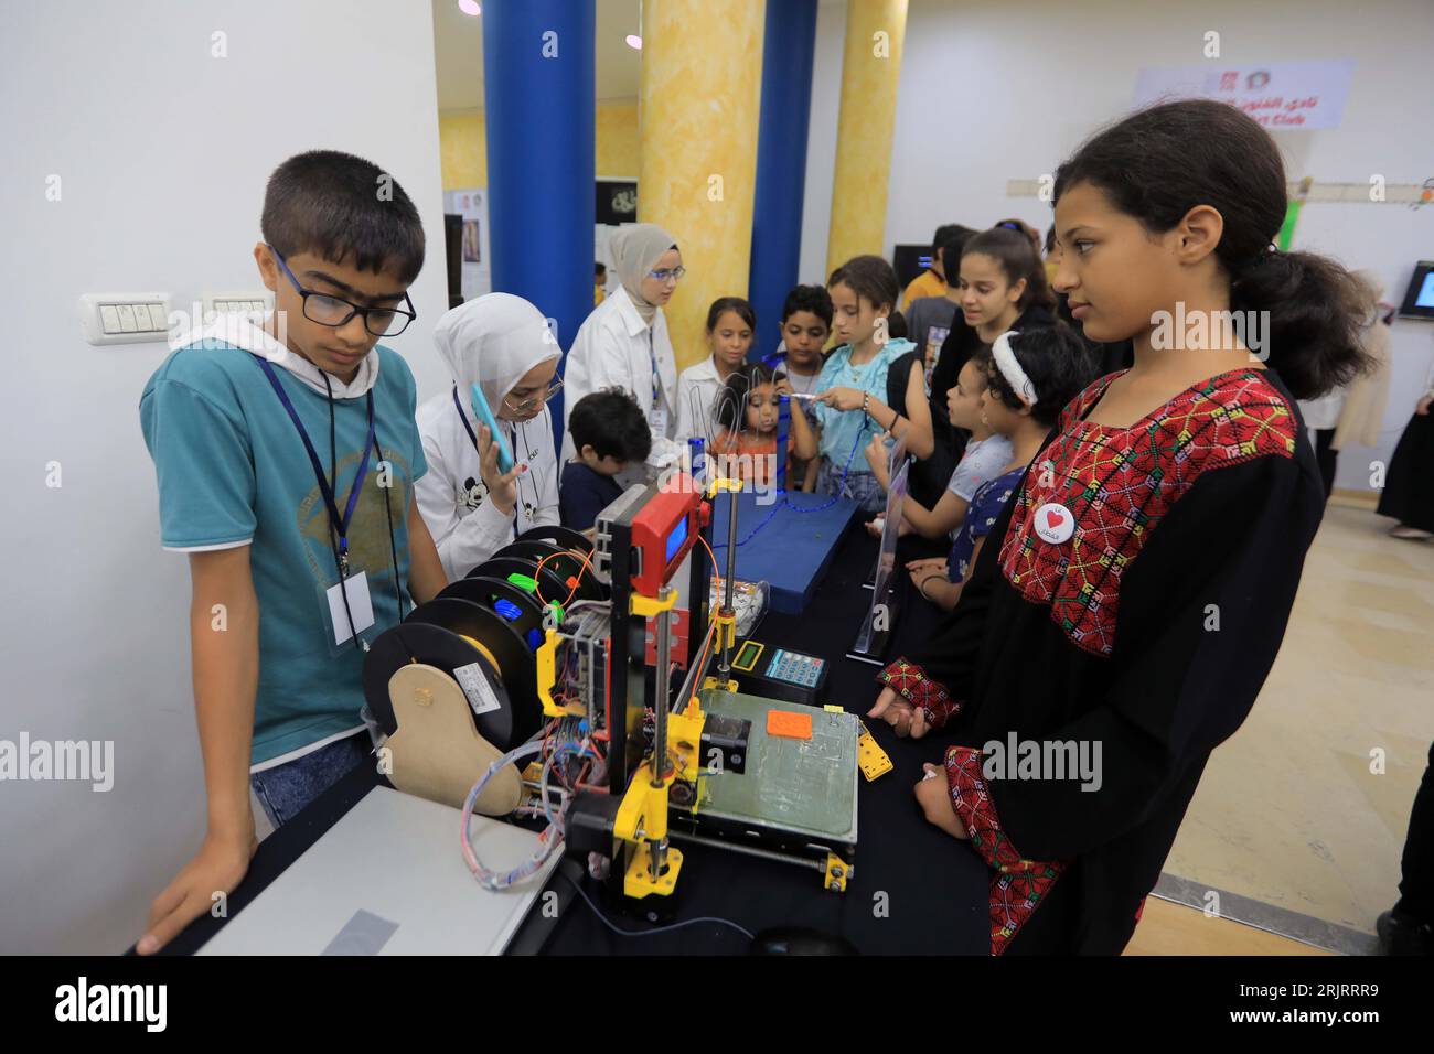
[[[562,466],[558,515],[562,525],[587,531],[622,488],[614,479],[628,462],[641,465],[652,447],[642,407],[622,389],[584,396],[568,419],[578,456]]]

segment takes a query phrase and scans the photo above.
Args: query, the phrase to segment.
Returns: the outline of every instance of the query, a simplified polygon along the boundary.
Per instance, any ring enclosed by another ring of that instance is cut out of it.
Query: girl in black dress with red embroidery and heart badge
[[[870,711],[954,734],[916,797],[992,870],[992,952],[1126,946],[1279,651],[1324,509],[1295,400],[1364,367],[1349,275],[1271,251],[1285,205],[1269,135],[1209,100],[1136,113],[1057,172],[1054,287],[1134,366],[1065,407]]]

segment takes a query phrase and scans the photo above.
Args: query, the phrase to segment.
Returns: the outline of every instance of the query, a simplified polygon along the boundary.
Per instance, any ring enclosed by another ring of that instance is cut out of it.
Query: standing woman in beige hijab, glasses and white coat
[[[568,351],[564,407],[605,387],[621,387],[637,399],[652,430],[648,465],[663,467],[677,456],[677,359],[667,334],[663,304],[683,277],[677,239],[655,224],[619,228],[608,242],[619,285],[582,323]],[[574,456],[562,440],[564,460]]]

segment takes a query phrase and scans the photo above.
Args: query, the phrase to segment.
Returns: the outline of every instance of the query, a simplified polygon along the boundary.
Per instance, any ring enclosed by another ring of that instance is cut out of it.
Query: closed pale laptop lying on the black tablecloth
[[[522,883],[483,889],[457,809],[374,787],[238,912],[199,955],[500,955],[561,853]],[[475,816],[485,866],[525,862],[538,835]]]

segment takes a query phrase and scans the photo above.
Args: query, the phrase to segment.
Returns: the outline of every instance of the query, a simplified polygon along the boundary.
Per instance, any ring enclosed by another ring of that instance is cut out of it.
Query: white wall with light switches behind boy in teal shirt
[[[165,344],[90,347],[82,293],[258,284],[268,174],[330,146],[423,215],[420,399],[446,307],[433,30],[402,0],[7,4],[0,43],[6,376],[0,739],[113,740],[115,787],[0,783],[0,952],[119,952],[204,830],[188,569],[162,552],[139,394]],[[228,57],[211,57],[211,34]],[[62,199],[46,201],[46,179]],[[60,462],[63,486],[46,486]]]

